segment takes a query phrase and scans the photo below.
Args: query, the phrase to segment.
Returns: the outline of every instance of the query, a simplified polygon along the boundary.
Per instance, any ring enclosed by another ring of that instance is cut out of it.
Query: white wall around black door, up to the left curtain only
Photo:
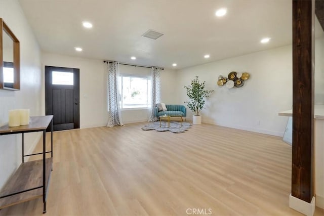
[[[80,69],[80,128],[104,126],[107,124],[107,78],[106,64],[101,60],[42,54],[43,74],[45,66]],[[45,83],[43,76],[43,83]],[[43,103],[45,87],[43,86]]]

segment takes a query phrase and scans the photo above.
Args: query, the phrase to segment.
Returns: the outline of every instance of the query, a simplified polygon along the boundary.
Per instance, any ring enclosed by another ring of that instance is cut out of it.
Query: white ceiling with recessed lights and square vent
[[[44,52],[175,69],[292,42],[291,0],[20,0]],[[218,18],[215,11],[227,8]],[[83,21],[93,23],[85,29]],[[164,33],[157,40],[141,35]],[[271,37],[261,44],[263,37]],[[74,51],[82,47],[83,52]],[[209,59],[204,59],[210,54]],[[136,60],[131,60],[136,56]]]

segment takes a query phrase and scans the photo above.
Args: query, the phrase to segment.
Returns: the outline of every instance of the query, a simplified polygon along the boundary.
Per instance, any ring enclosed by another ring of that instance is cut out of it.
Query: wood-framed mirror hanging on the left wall
[[[0,18],[0,89],[20,90],[19,40],[2,18]]]

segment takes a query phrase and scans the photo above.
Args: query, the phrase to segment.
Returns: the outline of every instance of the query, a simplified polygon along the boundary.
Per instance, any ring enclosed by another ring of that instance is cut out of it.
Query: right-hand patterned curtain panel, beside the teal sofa
[[[151,103],[150,103],[150,114],[148,121],[157,121],[157,117],[154,116],[154,108],[157,103],[160,102],[160,69],[152,67],[151,70]]]

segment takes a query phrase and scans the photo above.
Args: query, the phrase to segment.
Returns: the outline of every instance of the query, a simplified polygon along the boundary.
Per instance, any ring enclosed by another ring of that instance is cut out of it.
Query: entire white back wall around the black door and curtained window
[[[42,55],[43,73],[45,65],[80,69],[80,128],[105,126],[108,121],[107,108],[107,67],[103,60],[77,58],[51,53]],[[150,75],[150,68],[119,66],[120,73]],[[161,71],[161,99],[175,102],[173,97],[174,70]],[[44,80],[43,80],[44,82]],[[45,89],[43,88],[43,102]],[[45,103],[45,102],[44,102]],[[121,111],[124,123],[143,122],[148,119],[147,109],[129,109]]]

